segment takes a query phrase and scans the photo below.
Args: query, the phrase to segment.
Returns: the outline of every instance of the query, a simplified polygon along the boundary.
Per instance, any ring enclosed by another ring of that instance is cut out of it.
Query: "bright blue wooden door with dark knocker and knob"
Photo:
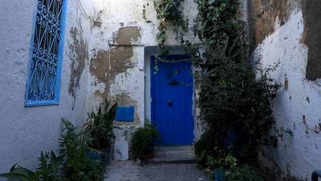
[[[193,73],[187,56],[167,56],[171,63],[152,64],[152,123],[158,127],[158,145],[193,143]]]

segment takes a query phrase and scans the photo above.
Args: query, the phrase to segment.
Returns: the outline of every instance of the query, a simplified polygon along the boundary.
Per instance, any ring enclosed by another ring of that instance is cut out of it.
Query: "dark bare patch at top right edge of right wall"
[[[301,43],[309,47],[307,69],[305,77],[307,80],[321,78],[321,1],[302,1],[302,14],[305,25],[305,32],[302,34]]]

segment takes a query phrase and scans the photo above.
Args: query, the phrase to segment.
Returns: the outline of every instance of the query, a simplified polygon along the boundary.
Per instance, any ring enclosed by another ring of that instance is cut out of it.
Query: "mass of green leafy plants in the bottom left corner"
[[[65,128],[58,156],[53,151],[50,155],[41,152],[38,158],[40,167],[36,171],[14,165],[10,173],[2,173],[0,177],[23,181],[104,180],[104,167],[85,154],[88,147],[84,143],[84,132],[76,132],[77,128],[67,119],[62,119],[62,123]]]

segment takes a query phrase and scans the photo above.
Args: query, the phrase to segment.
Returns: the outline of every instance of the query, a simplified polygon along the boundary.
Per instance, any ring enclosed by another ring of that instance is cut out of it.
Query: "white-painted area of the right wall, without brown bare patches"
[[[276,31],[259,47],[263,64],[281,61],[273,73],[276,82],[283,84],[274,101],[274,117],[279,126],[291,129],[293,136],[284,134],[278,147],[266,150],[267,155],[261,156],[261,160],[274,169],[279,180],[290,176],[310,180],[312,171],[321,169],[321,135],[307,129],[307,126],[314,129],[320,121],[321,80],[305,79],[309,49],[300,43],[304,32],[302,11],[294,10],[288,16],[285,25],[280,27],[276,22]]]

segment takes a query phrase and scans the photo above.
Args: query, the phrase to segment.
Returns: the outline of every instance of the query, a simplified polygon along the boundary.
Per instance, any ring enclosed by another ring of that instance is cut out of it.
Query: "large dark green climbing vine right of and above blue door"
[[[195,143],[195,154],[206,162],[206,155],[215,156],[217,148],[224,149],[229,143],[242,160],[255,160],[263,147],[275,147],[284,133],[292,135],[291,130],[278,127],[272,111],[273,100],[281,88],[272,78],[279,62],[263,67],[260,49],[256,62],[252,60],[239,1],[195,0],[195,3],[198,16],[194,35],[202,41],[201,45],[184,36],[189,25],[180,11],[182,1],[154,1],[160,21],[156,36],[160,55],[168,53],[164,43],[167,26],[172,25],[176,40],[193,65],[202,70],[200,117],[208,128]],[[273,4],[268,5],[253,16],[263,16],[273,8]]]

